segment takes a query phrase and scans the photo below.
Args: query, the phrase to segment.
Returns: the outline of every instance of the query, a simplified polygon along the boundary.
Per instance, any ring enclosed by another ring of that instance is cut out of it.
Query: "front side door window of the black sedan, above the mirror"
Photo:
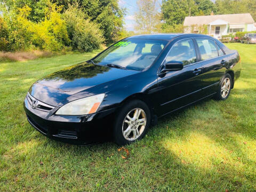
[[[185,39],[176,43],[166,57],[166,62],[182,61],[183,65],[196,62],[196,51],[192,39]]]

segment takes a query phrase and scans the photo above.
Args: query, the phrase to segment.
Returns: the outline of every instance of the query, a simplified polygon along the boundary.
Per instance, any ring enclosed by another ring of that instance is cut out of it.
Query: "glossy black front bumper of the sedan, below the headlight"
[[[48,138],[75,145],[103,142],[111,138],[114,108],[85,116],[58,116],[49,111],[33,109],[27,97],[23,107],[28,122]]]

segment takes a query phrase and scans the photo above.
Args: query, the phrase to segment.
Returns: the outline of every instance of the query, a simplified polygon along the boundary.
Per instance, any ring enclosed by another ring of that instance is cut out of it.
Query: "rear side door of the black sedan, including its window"
[[[218,90],[221,77],[226,72],[225,55],[218,44],[210,38],[195,38],[199,47],[202,64],[202,97],[214,94]]]

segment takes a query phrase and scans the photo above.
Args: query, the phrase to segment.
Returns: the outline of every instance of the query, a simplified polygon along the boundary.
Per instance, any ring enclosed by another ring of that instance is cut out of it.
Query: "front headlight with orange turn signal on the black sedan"
[[[95,113],[104,97],[105,94],[98,94],[71,101],[59,108],[56,115],[87,115]]]

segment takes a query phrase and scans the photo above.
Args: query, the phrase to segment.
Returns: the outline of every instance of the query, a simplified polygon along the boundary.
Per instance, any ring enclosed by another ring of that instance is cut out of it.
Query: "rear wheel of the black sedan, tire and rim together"
[[[228,85],[226,85],[226,84],[228,84]],[[218,92],[215,95],[215,99],[226,100],[230,94],[231,85],[232,85],[231,76],[229,74],[224,75],[220,81],[220,84],[218,87]]]

